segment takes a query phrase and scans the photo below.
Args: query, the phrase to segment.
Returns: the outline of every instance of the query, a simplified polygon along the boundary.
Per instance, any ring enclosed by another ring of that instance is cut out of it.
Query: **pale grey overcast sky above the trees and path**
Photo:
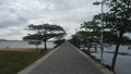
[[[100,13],[96,0],[0,0],[0,38],[22,39],[28,24],[50,23],[62,26],[68,37],[84,21]],[[97,0],[102,1],[102,0]]]

